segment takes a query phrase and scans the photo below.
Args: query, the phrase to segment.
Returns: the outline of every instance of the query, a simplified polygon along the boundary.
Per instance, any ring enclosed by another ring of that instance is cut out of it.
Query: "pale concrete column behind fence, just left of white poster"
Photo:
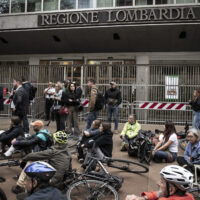
[[[150,83],[150,67],[148,56],[136,56],[137,73],[136,73],[136,101],[148,101],[149,99],[149,83]],[[138,120],[147,121],[147,111],[137,110]]]

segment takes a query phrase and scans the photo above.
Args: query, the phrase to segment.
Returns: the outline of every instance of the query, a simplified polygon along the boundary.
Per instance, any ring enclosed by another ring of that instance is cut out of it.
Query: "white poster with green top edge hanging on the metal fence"
[[[178,99],[178,76],[165,76],[165,99]]]

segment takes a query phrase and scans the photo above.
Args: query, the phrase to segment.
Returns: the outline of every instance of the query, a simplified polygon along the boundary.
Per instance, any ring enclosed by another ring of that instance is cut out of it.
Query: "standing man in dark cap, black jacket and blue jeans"
[[[115,121],[115,131],[118,133],[118,106],[122,102],[121,92],[117,89],[114,81],[110,83],[110,88],[105,93],[107,120],[111,122],[112,114]]]

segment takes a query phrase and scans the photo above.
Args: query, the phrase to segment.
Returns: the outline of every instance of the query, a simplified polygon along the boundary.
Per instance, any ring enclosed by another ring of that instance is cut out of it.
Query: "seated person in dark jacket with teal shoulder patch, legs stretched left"
[[[46,129],[42,129],[44,123],[41,120],[36,120],[31,125],[35,133],[27,138],[18,137],[13,139],[11,142],[13,147],[15,149],[23,149],[27,153],[46,150],[50,145],[50,133]]]

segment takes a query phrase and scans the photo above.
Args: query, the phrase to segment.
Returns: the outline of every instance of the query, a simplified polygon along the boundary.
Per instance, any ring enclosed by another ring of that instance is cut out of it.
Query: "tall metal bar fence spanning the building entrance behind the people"
[[[176,124],[191,123],[192,112],[188,100],[193,98],[193,90],[200,86],[200,65],[70,65],[70,66],[0,66],[0,84],[12,89],[12,80],[26,77],[38,88],[32,103],[30,115],[44,116],[43,91],[48,82],[69,79],[76,81],[83,89],[83,98],[88,98],[88,79],[95,79],[98,88],[105,92],[109,83],[115,81],[122,93],[119,121],[125,122],[130,114],[135,114],[141,123],[162,124],[171,120]],[[4,97],[8,98],[7,95]],[[141,106],[141,105],[147,106]],[[161,109],[162,106],[163,109]],[[175,109],[184,105],[185,109]],[[171,109],[169,109],[171,107]],[[87,117],[88,108],[80,113],[80,119]],[[9,116],[9,105],[1,116]],[[99,117],[106,120],[103,109]]]

